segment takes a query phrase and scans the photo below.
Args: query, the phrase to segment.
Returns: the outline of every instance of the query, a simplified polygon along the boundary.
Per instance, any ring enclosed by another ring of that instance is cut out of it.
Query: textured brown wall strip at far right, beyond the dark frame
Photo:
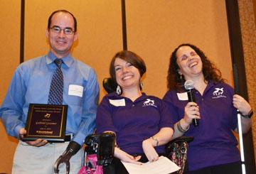
[[[253,6],[253,2],[255,6]],[[245,72],[249,102],[256,110],[256,1],[239,0],[240,26],[242,31],[242,48],[245,58]],[[255,114],[256,115],[256,114]],[[252,136],[256,158],[256,116],[252,117]]]

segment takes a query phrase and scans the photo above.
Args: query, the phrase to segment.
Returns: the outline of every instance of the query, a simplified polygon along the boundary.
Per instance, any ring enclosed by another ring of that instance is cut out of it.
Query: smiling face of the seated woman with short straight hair
[[[114,60],[114,72],[117,84],[122,87],[122,89],[139,88],[139,70],[130,62],[116,58]]]

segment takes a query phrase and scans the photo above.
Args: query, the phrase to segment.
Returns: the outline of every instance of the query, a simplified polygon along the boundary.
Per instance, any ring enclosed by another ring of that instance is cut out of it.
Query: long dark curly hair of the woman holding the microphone
[[[183,84],[185,82],[183,75],[181,76],[180,74],[178,74],[179,67],[176,61],[177,60],[176,52],[178,48],[181,48],[182,46],[191,47],[200,56],[203,62],[203,76],[206,81],[212,80],[213,82],[225,82],[225,79],[221,77],[220,70],[218,70],[218,68],[214,65],[213,62],[208,60],[208,58],[206,57],[205,53],[203,53],[202,50],[200,50],[195,45],[192,45],[190,43],[183,43],[181,45],[178,45],[178,47],[175,48],[174,52],[171,53],[168,76],[167,76],[167,88],[169,90],[175,89],[181,92]]]

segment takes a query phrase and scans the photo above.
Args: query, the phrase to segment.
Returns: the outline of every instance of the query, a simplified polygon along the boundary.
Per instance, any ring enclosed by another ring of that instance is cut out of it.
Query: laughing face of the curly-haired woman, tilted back
[[[180,75],[184,75],[186,80],[203,75],[203,63],[200,56],[190,46],[181,46],[176,52],[176,62]]]

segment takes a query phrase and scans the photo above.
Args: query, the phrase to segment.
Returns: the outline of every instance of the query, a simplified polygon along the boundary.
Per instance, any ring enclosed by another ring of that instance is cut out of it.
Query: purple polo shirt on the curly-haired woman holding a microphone
[[[203,96],[195,89],[201,120],[198,127],[191,124],[184,134],[194,137],[188,145],[189,170],[240,161],[236,147],[238,142],[232,132],[238,124],[233,94],[233,88],[229,85],[210,81]],[[185,100],[182,92],[166,92],[164,101],[171,109],[174,123],[183,118],[188,99]]]

